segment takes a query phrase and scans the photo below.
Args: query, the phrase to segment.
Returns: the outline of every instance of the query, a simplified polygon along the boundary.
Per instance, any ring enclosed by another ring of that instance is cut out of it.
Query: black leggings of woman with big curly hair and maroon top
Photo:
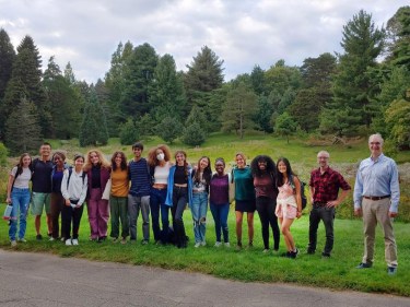
[[[273,233],[273,249],[279,249],[280,231],[278,226],[278,217],[274,214],[277,200],[267,197],[258,197],[256,199],[256,210],[259,213],[260,224],[262,225],[262,238],[266,249],[269,249],[269,224]]]

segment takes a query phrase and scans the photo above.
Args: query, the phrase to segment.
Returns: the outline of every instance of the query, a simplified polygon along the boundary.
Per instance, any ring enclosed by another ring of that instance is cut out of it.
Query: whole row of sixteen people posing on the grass
[[[363,215],[365,251],[356,268],[372,267],[375,227],[379,223],[385,235],[388,273],[395,274],[397,247],[390,217],[397,215],[400,192],[396,163],[383,154],[383,142],[379,134],[370,137],[371,157],[364,160],[358,169],[354,212]],[[109,236],[114,243],[126,244],[128,237],[130,243],[136,243],[137,221],[141,212],[142,245],[147,245],[150,239],[151,215],[155,244],[172,243],[178,248],[187,247],[188,237],[183,219],[187,204],[192,216],[195,247],[207,245],[209,204],[215,225],[214,246],[230,247],[227,216],[230,204],[235,201],[237,249],[243,248],[245,213],[248,247],[254,246],[254,213],[257,211],[263,252],[270,251],[271,228],[274,252],[279,251],[282,234],[286,246],[282,256],[296,258],[300,253],[291,225],[302,216],[303,182],[285,157],[274,163],[267,155],[258,155],[248,166],[245,155],[237,153],[236,165],[231,172],[226,172],[225,161],[219,157],[214,161],[215,172],[212,173],[208,156],[202,156],[191,167],[187,154],[177,151],[173,163],[166,145],[152,147],[144,158],[143,145],[138,142],[132,145],[133,158],[130,162],[127,162],[121,151],[115,152],[108,162],[98,150],[91,150],[85,157],[74,155],[72,167],[66,163],[62,152],[55,152],[51,157],[49,143],[44,143],[39,152],[40,156],[33,161],[30,154],[24,153],[9,176],[7,202],[12,205],[9,229],[12,246],[25,241],[26,214],[31,202],[38,240],[43,239],[40,216],[45,208],[49,239],[79,245],[79,225],[86,203],[90,240],[106,240],[110,220]],[[324,258],[329,258],[333,248],[335,210],[351,190],[343,176],[329,167],[329,157],[326,151],[317,154],[319,167],[312,170],[308,182],[312,210],[307,253],[316,251],[317,229],[323,221],[326,232],[321,252]]]

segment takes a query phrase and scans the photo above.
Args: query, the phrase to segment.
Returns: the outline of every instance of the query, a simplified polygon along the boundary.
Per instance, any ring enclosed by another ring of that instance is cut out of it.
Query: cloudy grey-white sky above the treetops
[[[341,52],[342,26],[361,9],[377,26],[408,0],[0,0],[0,27],[16,47],[31,35],[43,57],[77,79],[104,78],[118,43],[149,43],[186,70],[202,46],[224,60],[225,80],[280,59]]]

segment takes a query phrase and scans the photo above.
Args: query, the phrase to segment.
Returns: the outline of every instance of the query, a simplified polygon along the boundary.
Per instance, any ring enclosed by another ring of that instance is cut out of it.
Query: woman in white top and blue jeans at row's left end
[[[24,153],[20,156],[19,164],[13,167],[9,176],[7,203],[11,203],[13,209],[10,214],[9,237],[11,246],[16,246],[17,220],[20,216],[19,241],[25,243],[26,216],[30,204],[28,181],[32,179],[30,166],[32,157]],[[20,211],[20,212],[19,212]],[[20,215],[19,215],[20,214]]]

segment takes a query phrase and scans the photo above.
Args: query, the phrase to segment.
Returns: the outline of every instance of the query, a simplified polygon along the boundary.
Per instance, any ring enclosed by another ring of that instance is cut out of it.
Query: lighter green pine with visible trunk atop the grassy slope
[[[251,119],[256,113],[256,94],[244,83],[234,86],[227,93],[226,102],[222,107],[222,129],[235,130],[243,139],[245,129],[254,128]]]

